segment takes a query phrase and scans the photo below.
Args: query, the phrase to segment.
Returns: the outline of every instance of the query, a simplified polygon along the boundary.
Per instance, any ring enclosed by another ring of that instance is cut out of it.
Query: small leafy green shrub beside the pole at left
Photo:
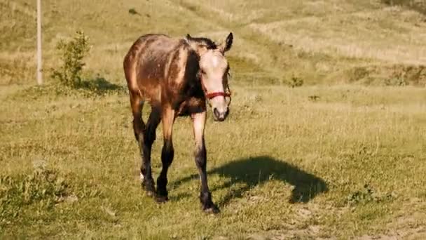
[[[59,69],[53,69],[53,79],[57,79],[65,86],[79,86],[81,72],[85,65],[83,58],[90,51],[88,36],[78,31],[74,39],[68,42],[60,41],[56,48],[60,52],[62,66]]]

